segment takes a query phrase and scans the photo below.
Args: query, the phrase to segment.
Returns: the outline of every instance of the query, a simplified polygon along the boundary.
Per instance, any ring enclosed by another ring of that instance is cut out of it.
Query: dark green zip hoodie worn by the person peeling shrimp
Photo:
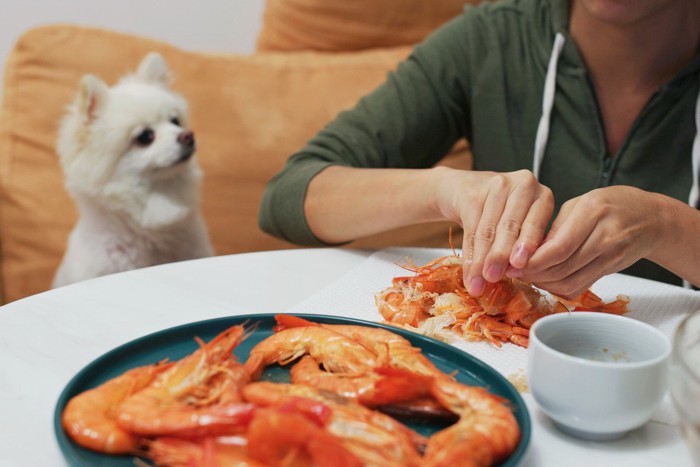
[[[314,175],[329,165],[425,168],[466,138],[475,170],[532,170],[554,36],[566,43],[557,67],[549,141],[539,180],[562,203],[592,189],[630,185],[687,202],[692,184],[700,56],[647,102],[617,154],[607,153],[594,88],[568,33],[569,0],[506,0],[467,6],[294,154],[268,184],[263,230],[322,245],[304,217]],[[642,260],[623,271],[680,284]]]

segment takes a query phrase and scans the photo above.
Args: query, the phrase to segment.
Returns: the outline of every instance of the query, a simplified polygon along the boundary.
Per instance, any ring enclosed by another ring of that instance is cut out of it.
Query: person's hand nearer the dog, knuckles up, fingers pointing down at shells
[[[477,297],[486,282],[527,265],[554,211],[552,191],[528,170],[451,171],[438,199],[443,215],[464,229],[464,284]]]

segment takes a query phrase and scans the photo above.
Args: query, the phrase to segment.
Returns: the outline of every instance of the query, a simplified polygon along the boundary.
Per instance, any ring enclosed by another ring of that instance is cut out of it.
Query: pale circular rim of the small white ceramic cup
[[[576,317],[576,318],[575,318]],[[587,358],[582,358],[582,357],[576,357],[573,355],[566,354],[564,352],[561,352],[559,350],[556,350],[543,342],[537,335],[537,331],[542,327],[546,326],[550,322],[556,322],[562,319],[583,319],[583,318],[592,318],[592,319],[597,319],[597,320],[608,320],[611,322],[623,322],[625,324],[630,324],[632,326],[639,326],[642,329],[645,329],[645,331],[650,332],[652,334],[655,334],[661,342],[664,343],[664,351],[657,355],[656,357],[652,357],[649,359],[645,359],[644,361],[641,362],[606,362],[606,361],[597,361],[597,360],[590,360]],[[557,356],[558,358],[561,358],[564,361],[569,361],[577,364],[583,364],[589,367],[593,368],[603,368],[603,369],[615,369],[615,370],[620,370],[620,369],[628,369],[628,370],[633,370],[637,368],[644,368],[644,367],[649,367],[653,366],[656,364],[659,364],[665,360],[667,360],[671,356],[671,352],[674,348],[673,343],[671,340],[660,330],[658,330],[656,327],[652,326],[649,323],[645,323],[644,321],[640,321],[638,319],[632,318],[631,316],[622,316],[622,315],[615,315],[611,313],[604,313],[604,312],[597,312],[597,311],[568,311],[568,312],[562,312],[562,313],[555,313],[552,315],[547,315],[544,316],[532,325],[532,328],[530,329],[530,340],[531,341],[537,341],[537,343],[542,347],[542,349],[552,355]]]

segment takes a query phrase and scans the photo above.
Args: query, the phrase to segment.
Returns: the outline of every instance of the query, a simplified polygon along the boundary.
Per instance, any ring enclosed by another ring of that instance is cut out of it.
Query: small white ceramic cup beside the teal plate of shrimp
[[[670,354],[670,339],[641,321],[557,313],[530,330],[528,384],[562,431],[615,439],[651,417],[667,390]]]

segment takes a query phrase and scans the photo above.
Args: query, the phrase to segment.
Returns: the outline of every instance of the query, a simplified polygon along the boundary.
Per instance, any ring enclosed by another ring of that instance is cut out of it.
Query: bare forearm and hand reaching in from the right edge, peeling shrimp
[[[601,188],[566,202],[544,244],[508,275],[573,297],[641,258],[700,285],[700,212],[658,193]]]

